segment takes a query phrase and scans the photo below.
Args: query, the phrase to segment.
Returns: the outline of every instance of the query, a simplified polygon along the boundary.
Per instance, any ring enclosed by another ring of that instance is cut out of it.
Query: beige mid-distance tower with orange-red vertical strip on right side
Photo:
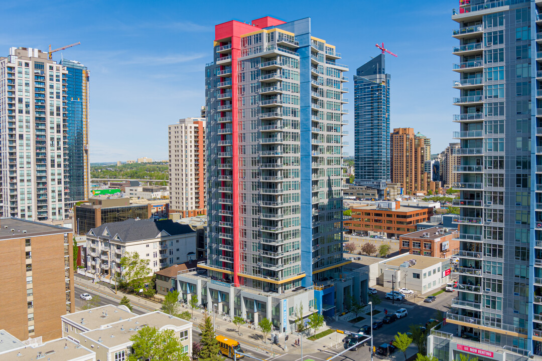
[[[180,119],[168,127],[170,213],[207,214],[205,119]]]

